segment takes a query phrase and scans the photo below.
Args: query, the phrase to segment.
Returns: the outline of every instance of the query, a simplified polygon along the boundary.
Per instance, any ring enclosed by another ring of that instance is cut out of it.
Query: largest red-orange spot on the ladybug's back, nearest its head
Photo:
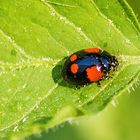
[[[86,69],[87,78],[91,82],[97,82],[97,81],[101,80],[101,78],[104,75],[103,71],[97,67],[98,66],[92,66],[92,67]]]

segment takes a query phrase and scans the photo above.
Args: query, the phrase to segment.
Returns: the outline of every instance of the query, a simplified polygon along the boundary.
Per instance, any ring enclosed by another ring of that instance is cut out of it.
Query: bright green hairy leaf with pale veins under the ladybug
[[[123,0],[0,1],[0,136],[19,139],[97,113],[138,80],[140,28]],[[100,47],[119,60],[101,87],[75,89],[61,77],[64,58]]]

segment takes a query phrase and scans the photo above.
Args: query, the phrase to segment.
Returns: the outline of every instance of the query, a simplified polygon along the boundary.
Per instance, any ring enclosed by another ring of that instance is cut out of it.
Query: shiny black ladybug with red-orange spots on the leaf
[[[88,48],[72,54],[66,60],[62,76],[64,80],[75,85],[87,85],[109,77],[118,61],[115,56],[99,48]]]

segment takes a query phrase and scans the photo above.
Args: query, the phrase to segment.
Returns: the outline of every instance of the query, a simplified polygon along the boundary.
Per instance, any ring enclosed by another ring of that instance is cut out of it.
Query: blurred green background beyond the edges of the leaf
[[[140,0],[127,0],[140,21]],[[42,140],[140,140],[140,86],[125,92],[95,116],[64,123]],[[31,137],[35,140],[38,137]]]

